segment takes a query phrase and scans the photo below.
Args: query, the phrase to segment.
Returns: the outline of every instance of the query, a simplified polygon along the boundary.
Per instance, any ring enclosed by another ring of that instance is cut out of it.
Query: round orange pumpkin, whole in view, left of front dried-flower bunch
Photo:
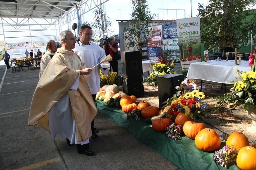
[[[210,152],[220,147],[220,137],[215,130],[205,128],[199,131],[195,137],[195,144],[198,149]]]

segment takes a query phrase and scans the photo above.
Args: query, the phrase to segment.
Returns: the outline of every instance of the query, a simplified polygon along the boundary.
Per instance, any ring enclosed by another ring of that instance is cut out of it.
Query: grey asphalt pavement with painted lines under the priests
[[[100,113],[99,137],[90,139],[94,156],[78,154],[62,136],[52,140],[38,125],[28,126],[38,76],[39,68],[15,73],[0,61],[0,169],[179,169]]]

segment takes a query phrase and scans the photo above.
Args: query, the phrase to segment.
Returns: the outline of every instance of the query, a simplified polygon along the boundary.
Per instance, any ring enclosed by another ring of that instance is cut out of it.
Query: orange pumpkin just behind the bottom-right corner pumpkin
[[[242,132],[233,132],[228,136],[227,145],[236,149],[250,146],[248,138]]]

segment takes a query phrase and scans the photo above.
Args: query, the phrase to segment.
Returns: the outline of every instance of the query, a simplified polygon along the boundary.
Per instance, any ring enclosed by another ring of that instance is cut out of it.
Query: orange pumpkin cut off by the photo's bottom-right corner
[[[245,146],[236,157],[236,164],[240,169],[256,170],[256,148]]]

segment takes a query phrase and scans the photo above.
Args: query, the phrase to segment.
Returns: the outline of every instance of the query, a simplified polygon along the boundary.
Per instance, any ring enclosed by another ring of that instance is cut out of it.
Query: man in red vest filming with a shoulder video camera
[[[106,55],[110,54],[112,57],[112,61],[109,61],[109,71],[111,71],[112,67],[113,72],[117,72],[118,74],[118,45],[115,43],[116,38],[114,36],[110,36],[109,40],[108,37],[105,40],[107,41],[104,42],[105,45],[103,49],[105,50]]]

